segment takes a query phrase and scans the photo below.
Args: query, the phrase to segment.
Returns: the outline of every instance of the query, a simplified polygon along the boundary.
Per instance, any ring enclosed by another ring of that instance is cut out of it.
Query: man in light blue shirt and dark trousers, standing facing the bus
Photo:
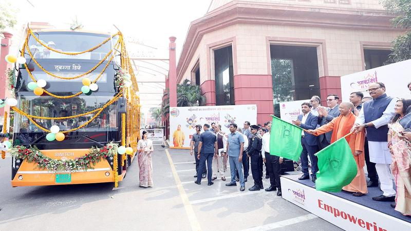
[[[231,133],[228,135],[226,155],[230,157],[231,182],[226,184],[226,186],[237,185],[235,182],[235,170],[237,169],[240,177],[240,191],[244,191],[246,189],[244,174],[242,173],[242,151],[244,149],[244,138],[242,137],[242,134],[237,131],[237,124],[230,124],[230,131]]]

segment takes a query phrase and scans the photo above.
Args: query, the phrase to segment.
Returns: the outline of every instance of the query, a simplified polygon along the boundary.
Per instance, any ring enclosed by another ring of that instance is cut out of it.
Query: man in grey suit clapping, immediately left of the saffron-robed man
[[[327,95],[327,106],[328,108],[321,107],[318,110],[318,124],[323,126],[324,124],[328,124],[332,119],[335,117],[339,117],[340,111],[338,109],[338,100],[340,98],[336,94],[329,94]],[[329,131],[325,134],[322,134],[318,137],[321,149],[330,145],[331,142],[331,134],[332,131]]]

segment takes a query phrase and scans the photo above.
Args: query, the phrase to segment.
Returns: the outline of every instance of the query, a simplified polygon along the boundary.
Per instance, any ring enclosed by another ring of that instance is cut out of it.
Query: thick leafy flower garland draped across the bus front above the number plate
[[[101,148],[91,147],[89,152],[82,157],[61,160],[45,156],[36,146],[30,148],[15,146],[10,148],[9,153],[15,159],[27,160],[28,163],[35,162],[40,169],[52,172],[74,172],[93,169],[92,166],[100,162],[102,158],[114,158],[118,147],[118,144],[110,142]]]

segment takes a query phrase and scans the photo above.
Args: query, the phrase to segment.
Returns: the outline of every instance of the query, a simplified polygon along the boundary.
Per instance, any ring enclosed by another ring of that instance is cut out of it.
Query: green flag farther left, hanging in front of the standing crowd
[[[298,161],[303,146],[301,146],[302,128],[285,122],[273,115],[270,131],[270,155]]]

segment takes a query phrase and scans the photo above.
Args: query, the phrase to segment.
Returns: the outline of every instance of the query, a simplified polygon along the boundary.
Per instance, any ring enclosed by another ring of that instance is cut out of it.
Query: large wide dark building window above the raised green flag
[[[316,47],[271,45],[270,53],[276,117],[280,117],[280,102],[320,95]]]

